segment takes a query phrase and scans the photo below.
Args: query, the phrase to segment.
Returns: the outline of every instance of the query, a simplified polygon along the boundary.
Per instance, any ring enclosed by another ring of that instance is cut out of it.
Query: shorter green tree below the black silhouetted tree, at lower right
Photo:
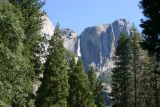
[[[153,60],[147,55],[146,51],[142,51],[142,53],[141,70],[137,73],[137,104],[138,107],[155,107]]]

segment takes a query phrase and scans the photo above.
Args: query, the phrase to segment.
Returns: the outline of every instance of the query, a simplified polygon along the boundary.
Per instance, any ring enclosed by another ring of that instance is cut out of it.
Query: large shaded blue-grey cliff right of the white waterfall
[[[94,64],[97,71],[107,71],[113,67],[112,57],[121,33],[130,34],[131,26],[125,19],[111,24],[86,28],[80,39],[80,53],[85,68]]]

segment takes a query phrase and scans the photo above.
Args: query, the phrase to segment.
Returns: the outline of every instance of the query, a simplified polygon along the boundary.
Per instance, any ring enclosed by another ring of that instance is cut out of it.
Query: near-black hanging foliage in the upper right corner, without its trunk
[[[160,1],[159,0],[141,0],[140,8],[143,10],[143,14],[146,17],[141,20],[141,27],[143,28],[143,34],[145,40],[142,46],[154,55],[157,51],[156,47],[158,43],[158,36],[160,35]]]

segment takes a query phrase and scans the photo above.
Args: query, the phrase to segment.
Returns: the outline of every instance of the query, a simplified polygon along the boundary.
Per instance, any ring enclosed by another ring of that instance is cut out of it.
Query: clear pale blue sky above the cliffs
[[[110,24],[125,18],[134,23],[139,31],[139,0],[45,0],[44,10],[55,25],[70,28],[80,34],[84,28],[100,24]]]

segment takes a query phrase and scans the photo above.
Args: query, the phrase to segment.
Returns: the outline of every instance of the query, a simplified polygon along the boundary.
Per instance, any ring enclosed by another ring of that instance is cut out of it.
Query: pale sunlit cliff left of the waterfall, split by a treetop
[[[42,26],[42,36],[46,38],[48,41],[51,39],[51,37],[54,34],[54,25],[50,18],[47,15],[44,15],[42,17],[43,20],[43,26]],[[71,52],[75,52],[75,44],[77,42],[77,33],[69,28],[61,29],[62,30],[62,39],[64,47]],[[48,49],[48,42],[44,44],[45,52],[47,53]]]

